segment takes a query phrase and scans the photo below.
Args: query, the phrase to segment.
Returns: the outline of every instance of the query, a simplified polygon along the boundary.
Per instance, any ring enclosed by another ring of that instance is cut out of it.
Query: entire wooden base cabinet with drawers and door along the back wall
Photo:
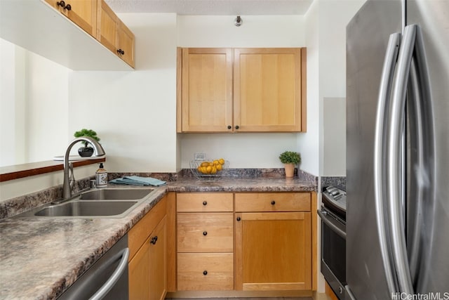
[[[177,193],[168,296],[311,296],[316,193]]]

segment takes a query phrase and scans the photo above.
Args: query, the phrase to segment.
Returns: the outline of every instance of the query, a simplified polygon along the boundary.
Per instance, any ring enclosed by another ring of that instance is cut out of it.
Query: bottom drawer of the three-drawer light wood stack
[[[234,289],[234,254],[178,253],[177,289],[180,291]]]

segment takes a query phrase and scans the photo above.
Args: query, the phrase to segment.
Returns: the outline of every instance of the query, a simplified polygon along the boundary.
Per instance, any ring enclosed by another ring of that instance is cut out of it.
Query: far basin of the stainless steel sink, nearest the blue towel
[[[146,197],[153,190],[149,188],[89,190],[82,193],[79,200],[139,200]]]

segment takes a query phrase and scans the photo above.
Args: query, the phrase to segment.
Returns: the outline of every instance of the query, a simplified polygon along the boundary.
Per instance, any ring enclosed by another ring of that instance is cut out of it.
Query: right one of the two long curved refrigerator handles
[[[408,264],[406,246],[405,218],[401,207],[403,183],[401,182],[402,129],[405,121],[406,94],[410,65],[415,49],[417,25],[408,25],[404,29],[403,41],[399,49],[398,65],[391,100],[391,122],[388,134],[387,152],[387,203],[389,208],[389,229],[391,246],[399,290],[413,294],[413,284]]]

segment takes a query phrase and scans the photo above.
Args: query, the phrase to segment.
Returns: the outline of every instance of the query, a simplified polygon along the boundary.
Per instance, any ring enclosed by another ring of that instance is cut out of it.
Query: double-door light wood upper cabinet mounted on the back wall
[[[305,48],[182,48],[177,131],[305,131],[305,56]]]

